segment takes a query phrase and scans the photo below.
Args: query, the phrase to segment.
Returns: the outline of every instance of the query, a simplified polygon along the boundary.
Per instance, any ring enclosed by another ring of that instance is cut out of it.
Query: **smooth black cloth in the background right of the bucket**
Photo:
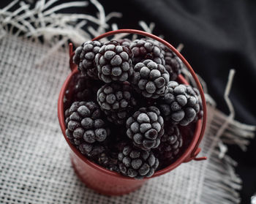
[[[138,20],[156,23],[154,34],[173,44],[184,43],[182,54],[208,85],[217,107],[228,114],[223,99],[230,69],[236,69],[230,99],[236,120],[256,124],[256,1],[101,1],[106,12],[123,12],[121,29],[139,29]],[[244,184],[241,203],[256,192],[256,140],[248,151],[230,146]]]

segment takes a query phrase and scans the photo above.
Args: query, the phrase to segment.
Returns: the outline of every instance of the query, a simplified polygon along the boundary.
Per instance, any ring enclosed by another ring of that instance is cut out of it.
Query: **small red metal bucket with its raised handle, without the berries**
[[[144,37],[150,37],[152,39],[156,39],[157,41],[167,46],[167,48],[170,48],[171,50],[173,50],[173,52],[176,53],[176,55],[181,59],[181,61],[183,61],[183,63],[187,66],[187,69],[189,69],[189,72],[192,74],[192,77],[195,79],[195,82],[197,84],[198,90],[200,91],[200,96],[203,103],[203,118],[197,121],[195,125],[194,136],[188,148],[176,160],[176,162],[165,167],[162,170],[158,170],[156,173],[154,173],[154,175],[151,178],[170,172],[174,168],[178,167],[178,165],[181,165],[181,163],[183,162],[189,162],[192,159],[197,161],[206,159],[206,157],[196,158],[197,154],[200,152],[200,148],[198,148],[198,146],[200,141],[203,138],[203,134],[206,128],[206,100],[203,94],[203,88],[201,87],[200,82],[197,79],[197,76],[195,75],[195,72],[193,71],[192,67],[189,65],[186,59],[183,56],[181,56],[181,53],[179,53],[178,50],[173,48],[172,45],[170,45],[164,39],[161,39],[153,34],[148,34],[145,31],[121,29],[117,31],[107,32],[105,34],[100,35],[99,37],[94,38],[93,40],[99,40],[99,39],[102,39],[103,37],[108,37],[108,36],[111,36],[114,34],[120,34],[120,33],[139,34],[139,35],[143,35]],[[67,135],[65,133],[66,126],[64,122],[64,95],[67,88],[69,87],[69,83],[72,79],[72,76],[78,73],[77,65],[72,63],[73,54],[74,53],[72,51],[72,44],[71,44],[69,45],[69,57],[70,57],[69,62],[70,62],[70,68],[72,72],[69,74],[69,76],[65,80],[64,85],[61,88],[61,92],[59,94],[59,100],[58,100],[59,124],[61,126],[61,131],[64,135],[64,138],[67,141],[69,147],[71,148],[70,156],[71,156],[72,165],[75,169],[75,172],[77,173],[79,178],[83,181],[83,183],[85,183],[86,186],[89,186],[91,189],[94,189],[95,191],[101,194],[120,195],[120,194],[127,194],[129,192],[132,192],[135,189],[138,189],[140,186],[142,186],[149,178],[136,180],[135,178],[128,178],[119,173],[106,170],[104,167],[101,167],[95,164],[94,162],[89,161],[89,159],[86,159],[86,157],[83,156],[83,154],[81,154],[78,151],[78,149],[75,148],[75,146],[72,146],[72,144],[69,142],[69,139],[67,138]],[[178,80],[181,83],[188,84],[187,80],[185,80],[181,75],[178,76]]]

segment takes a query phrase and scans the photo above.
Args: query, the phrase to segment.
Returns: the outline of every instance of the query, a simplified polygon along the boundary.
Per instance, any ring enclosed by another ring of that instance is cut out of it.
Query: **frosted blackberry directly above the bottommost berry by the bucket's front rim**
[[[138,148],[157,148],[164,134],[164,120],[157,107],[141,107],[127,119],[127,136]]]

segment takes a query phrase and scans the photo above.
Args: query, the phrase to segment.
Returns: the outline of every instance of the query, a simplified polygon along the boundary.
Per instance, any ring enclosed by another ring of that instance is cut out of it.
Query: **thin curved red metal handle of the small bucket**
[[[116,31],[108,31],[105,34],[101,34],[98,37],[95,37],[94,39],[92,39],[92,41],[99,40],[104,37],[109,37],[111,35],[120,34],[120,33],[139,34],[139,35],[143,35],[146,37],[150,37],[152,39],[156,39],[158,42],[161,42],[167,48],[170,48],[170,50],[172,50],[173,53],[176,53],[176,56],[178,56],[178,58],[180,58],[181,61],[186,65],[187,69],[189,70],[190,74],[192,75],[192,78],[194,78],[197,88],[200,92],[200,97],[202,99],[202,105],[203,105],[203,123],[202,123],[201,130],[200,130],[200,136],[197,140],[197,143],[195,144],[195,148],[192,150],[190,156],[188,156],[187,159],[184,160],[184,162],[189,162],[192,159],[194,159],[195,161],[201,161],[201,160],[207,159],[206,156],[197,157],[197,154],[199,154],[200,150],[201,150],[201,148],[199,148],[198,146],[199,146],[201,140],[203,139],[203,135],[206,130],[206,113],[207,113],[206,99],[205,99],[205,96],[203,93],[203,88],[200,84],[200,81],[198,80],[197,75],[195,74],[194,70],[192,69],[192,67],[190,66],[188,61],[181,55],[181,53],[178,52],[178,50],[176,50],[176,48],[173,47],[173,45],[170,45],[170,43],[166,42],[164,39],[157,37],[154,34],[149,34],[146,31],[139,31],[139,30],[135,30],[135,29],[119,29]],[[77,67],[77,65],[74,64],[72,61],[72,56],[74,56],[72,43],[69,43],[69,56],[70,56],[69,65],[70,65],[71,71],[73,72],[74,69]]]

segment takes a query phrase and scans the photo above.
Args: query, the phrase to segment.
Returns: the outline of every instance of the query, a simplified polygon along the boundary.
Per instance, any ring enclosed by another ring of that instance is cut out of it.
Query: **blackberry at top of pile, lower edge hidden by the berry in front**
[[[151,59],[157,64],[165,65],[165,59],[159,44],[152,39],[135,39],[129,48],[134,55],[133,64]]]

